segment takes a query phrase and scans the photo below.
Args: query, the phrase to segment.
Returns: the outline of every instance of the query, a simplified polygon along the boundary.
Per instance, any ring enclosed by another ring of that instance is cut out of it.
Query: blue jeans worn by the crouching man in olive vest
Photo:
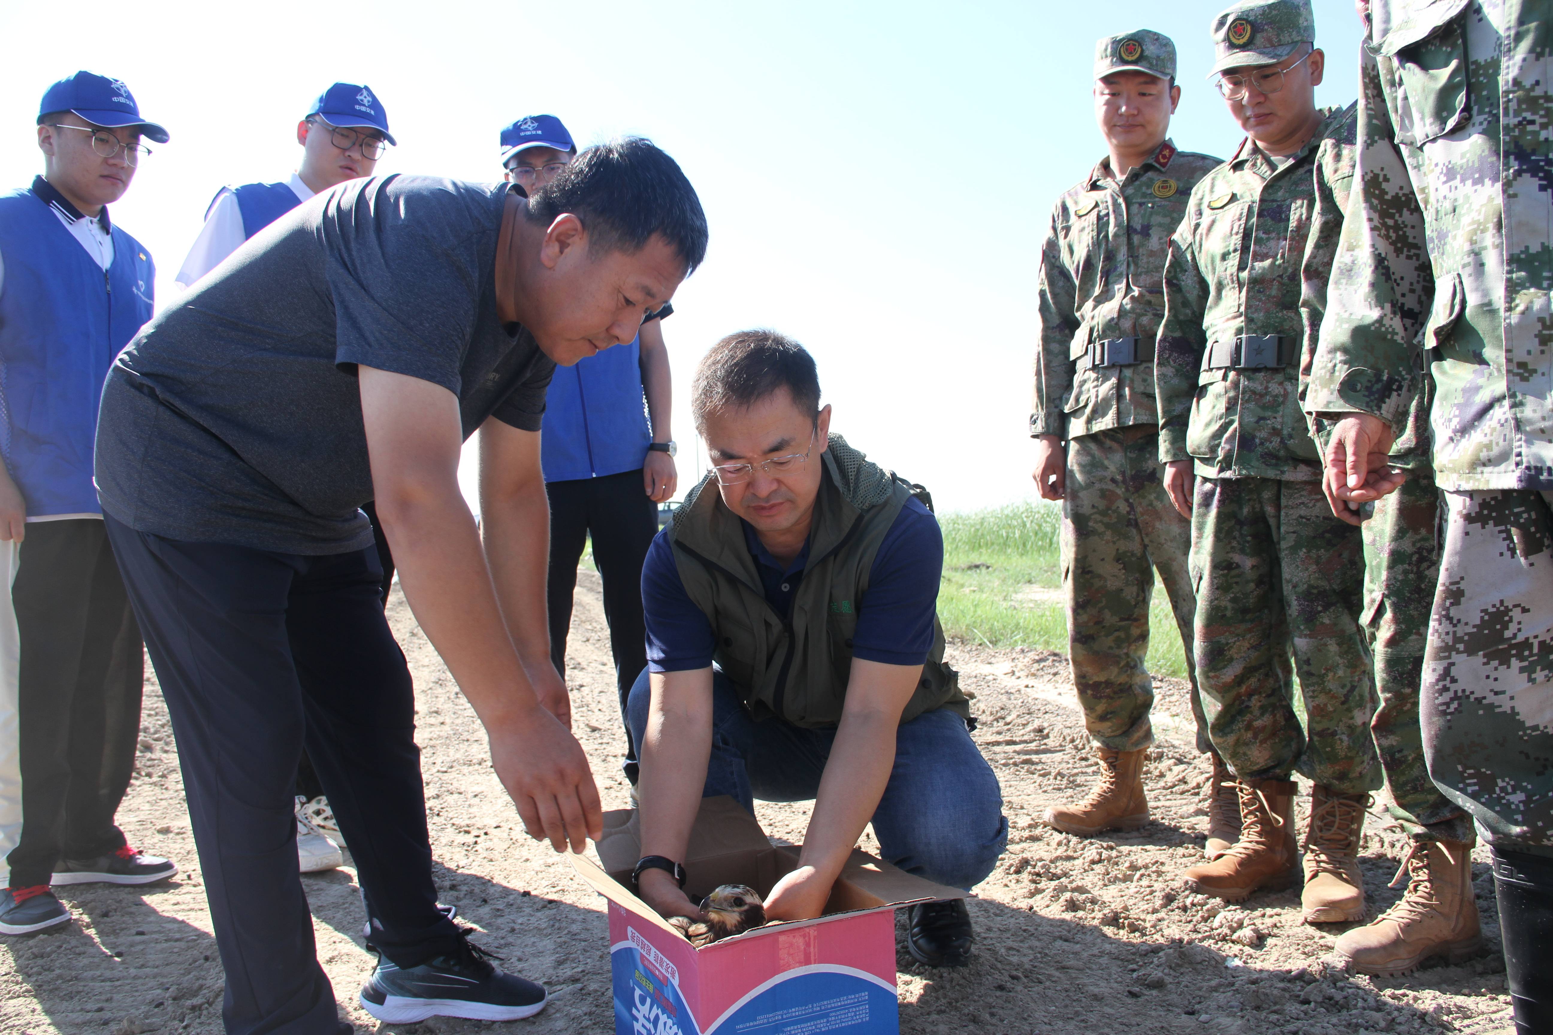
[[[637,743],[648,728],[648,672],[631,687],[627,715]],[[733,681],[711,677],[711,759],[704,798],[809,801],[831,757],[836,729],[804,729],[780,718],[756,722]],[[1008,843],[1003,793],[960,715],[938,709],[902,723],[895,768],[873,815],[885,861],[907,874],[969,891]]]

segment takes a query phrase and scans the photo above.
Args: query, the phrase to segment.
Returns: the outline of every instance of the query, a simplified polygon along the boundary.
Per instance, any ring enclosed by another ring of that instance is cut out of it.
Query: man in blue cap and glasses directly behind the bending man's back
[[[371,175],[388,144],[388,113],[370,87],[335,82],[318,95],[297,123],[301,164],[289,180],[224,186],[205,209],[205,228],[194,239],[177,282],[189,287],[244,241],[331,186]]]

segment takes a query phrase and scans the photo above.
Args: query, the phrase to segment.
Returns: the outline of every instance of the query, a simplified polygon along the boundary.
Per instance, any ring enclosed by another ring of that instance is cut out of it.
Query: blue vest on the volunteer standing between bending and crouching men
[[[556,368],[539,438],[545,481],[641,470],[651,441],[640,337]]]

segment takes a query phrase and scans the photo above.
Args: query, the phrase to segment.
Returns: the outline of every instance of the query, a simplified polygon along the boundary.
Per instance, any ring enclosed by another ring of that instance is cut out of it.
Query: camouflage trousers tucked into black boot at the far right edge
[[[1447,492],[1424,754],[1499,849],[1553,855],[1553,492]]]

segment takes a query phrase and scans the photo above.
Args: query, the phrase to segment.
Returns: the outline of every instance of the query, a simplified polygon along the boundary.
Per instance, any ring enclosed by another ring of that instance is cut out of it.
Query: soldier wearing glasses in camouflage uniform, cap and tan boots
[[[1197,680],[1244,824],[1185,878],[1230,900],[1300,881],[1298,770],[1315,784],[1301,900],[1317,923],[1364,916],[1359,833],[1381,771],[1359,529],[1322,495],[1298,397],[1312,169],[1323,147],[1343,158],[1354,141],[1353,109],[1315,107],[1314,37],[1309,0],[1238,3],[1213,23],[1219,88],[1247,138],[1193,189],[1171,241],[1154,376],[1166,487],[1193,515]]]

